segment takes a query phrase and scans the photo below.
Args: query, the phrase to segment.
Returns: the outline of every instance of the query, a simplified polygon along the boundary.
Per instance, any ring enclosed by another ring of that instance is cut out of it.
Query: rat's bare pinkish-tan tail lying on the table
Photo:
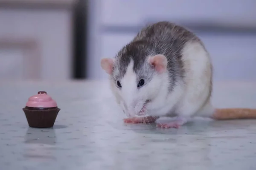
[[[256,119],[256,109],[249,108],[224,108],[215,109],[211,115],[215,120],[230,120],[230,119]]]

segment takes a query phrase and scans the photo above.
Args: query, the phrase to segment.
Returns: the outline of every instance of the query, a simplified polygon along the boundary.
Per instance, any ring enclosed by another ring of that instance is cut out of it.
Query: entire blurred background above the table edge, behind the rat
[[[256,0],[0,0],[0,82],[105,79],[100,59],[161,20],[201,38],[215,80],[256,80]]]

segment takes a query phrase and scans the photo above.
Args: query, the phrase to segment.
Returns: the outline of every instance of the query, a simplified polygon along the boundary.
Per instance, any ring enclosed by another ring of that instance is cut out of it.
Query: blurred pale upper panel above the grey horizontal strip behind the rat
[[[256,26],[255,0],[102,0],[102,23],[137,25],[152,19]]]

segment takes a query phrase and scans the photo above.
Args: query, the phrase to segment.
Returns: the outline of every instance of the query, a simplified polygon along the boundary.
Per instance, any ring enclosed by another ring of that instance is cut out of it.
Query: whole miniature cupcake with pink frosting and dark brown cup
[[[29,97],[23,108],[29,126],[41,128],[52,127],[60,110],[45,91],[38,91],[37,95]]]

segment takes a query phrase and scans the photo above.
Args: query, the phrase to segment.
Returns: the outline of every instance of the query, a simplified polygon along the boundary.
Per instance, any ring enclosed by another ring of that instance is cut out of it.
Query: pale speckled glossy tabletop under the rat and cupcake
[[[61,108],[52,128],[22,111],[38,91]],[[256,108],[256,82],[214,82],[212,101]],[[105,81],[1,81],[0,108],[0,170],[256,170],[256,120],[125,125]]]

